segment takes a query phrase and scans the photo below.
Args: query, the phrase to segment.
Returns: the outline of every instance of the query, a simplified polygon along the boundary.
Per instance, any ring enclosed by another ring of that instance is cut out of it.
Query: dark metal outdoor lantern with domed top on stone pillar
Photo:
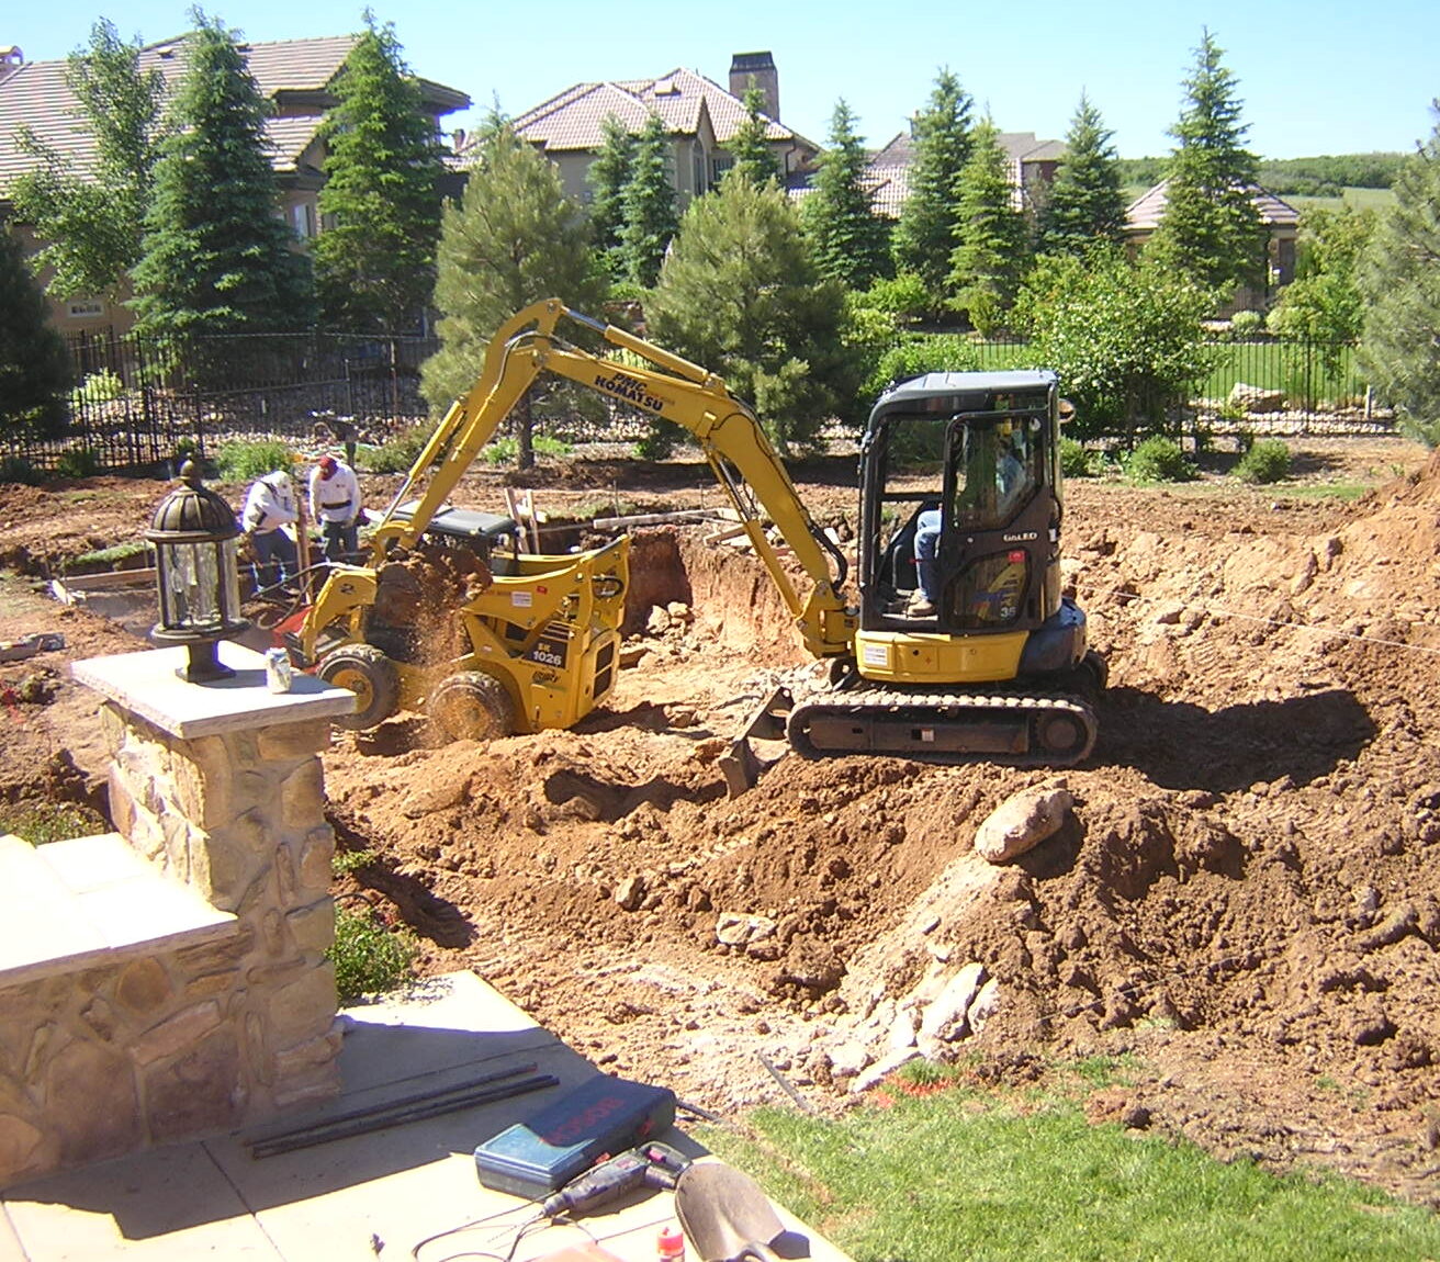
[[[240,613],[240,576],[235,512],[200,485],[193,460],[180,468],[180,484],[156,509],[145,540],[156,545],[160,622],[150,637],[190,649],[189,665],[176,673],[190,684],[228,679],[216,642],[249,626]]]

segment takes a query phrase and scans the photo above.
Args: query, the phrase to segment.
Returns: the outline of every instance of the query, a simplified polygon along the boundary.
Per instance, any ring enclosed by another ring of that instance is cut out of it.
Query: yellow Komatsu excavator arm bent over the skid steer
[[[556,327],[566,317],[642,363],[605,358],[557,338]],[[688,430],[740,515],[806,649],[818,658],[852,652],[858,619],[841,596],[845,558],[811,518],[755,413],[698,364],[572,311],[554,298],[517,312],[491,338],[475,384],[451,404],[376,528],[372,547],[377,563],[392,543],[415,544],[480,449],[543,376],[573,381]],[[416,495],[415,507],[397,517],[397,507]],[[766,535],[762,512],[775,522],[805,570],[811,581],[808,596],[802,597],[791,581]]]

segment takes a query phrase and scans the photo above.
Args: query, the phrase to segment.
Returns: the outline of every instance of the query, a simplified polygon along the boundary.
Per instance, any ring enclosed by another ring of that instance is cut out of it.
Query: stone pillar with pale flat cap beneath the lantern
[[[187,684],[184,650],[73,665],[107,699],[109,806],[140,855],[236,917],[223,941],[166,961],[184,1003],[131,1049],[151,1143],[251,1124],[338,1091],[330,861],[320,751],[354,694],[310,675],[265,688],[264,659],[229,642],[233,679]],[[160,980],[156,980],[160,986]],[[134,986],[144,989],[144,979]]]

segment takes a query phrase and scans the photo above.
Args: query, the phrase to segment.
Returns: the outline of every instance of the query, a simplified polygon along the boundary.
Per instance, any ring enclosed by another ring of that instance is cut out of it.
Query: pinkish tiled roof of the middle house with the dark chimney
[[[552,151],[596,150],[602,124],[613,115],[629,131],[639,131],[652,114],[671,135],[694,135],[704,115],[716,141],[726,144],[744,122],[744,102],[694,71],[674,69],[658,79],[621,79],[576,83],[516,118],[516,132]],[[780,122],[766,119],[769,140],[801,140]],[[805,141],[808,144],[808,141]]]

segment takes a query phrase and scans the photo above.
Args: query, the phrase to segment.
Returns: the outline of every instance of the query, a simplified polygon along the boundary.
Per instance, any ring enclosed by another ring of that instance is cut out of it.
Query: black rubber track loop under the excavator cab
[[[984,722],[984,717],[976,711],[1001,711],[1020,718],[1027,712],[1035,717],[1040,712],[1064,712],[1071,715],[1083,728],[1084,738],[1073,754],[1057,755],[1051,751],[1031,750],[1027,753],[1012,751],[959,751],[937,750],[924,751],[923,747],[906,747],[904,750],[852,750],[834,748],[824,750],[811,741],[805,730],[805,719],[815,715],[834,715],[848,721],[867,722],[880,717],[881,712],[890,715],[896,711],[907,711],[906,722],[916,727],[933,728],[963,728],[966,727],[966,712],[969,719]],[[795,707],[788,721],[791,745],[804,757],[827,758],[845,755],[878,754],[881,757],[914,758],[923,763],[968,764],[991,763],[1008,767],[1073,767],[1083,761],[1096,740],[1094,711],[1074,696],[1040,692],[910,692],[903,689],[865,688],[854,692],[838,694],[832,698],[818,698]],[[809,745],[809,748],[806,748]]]

